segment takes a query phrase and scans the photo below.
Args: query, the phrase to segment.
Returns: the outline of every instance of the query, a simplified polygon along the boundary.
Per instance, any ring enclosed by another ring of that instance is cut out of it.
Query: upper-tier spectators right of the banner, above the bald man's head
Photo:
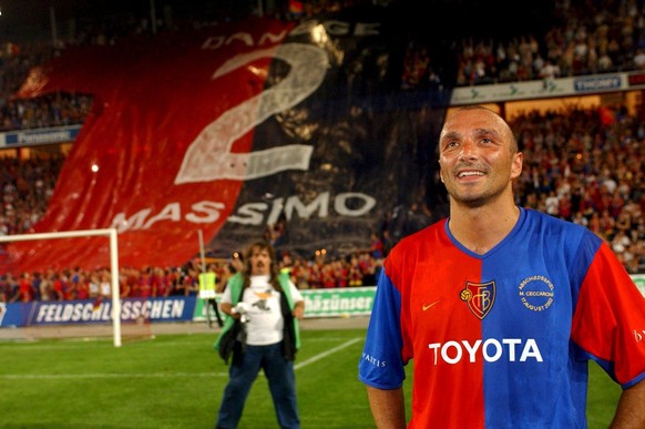
[[[458,53],[457,85],[645,70],[645,4],[642,1],[556,1],[543,35],[463,37],[449,41]],[[401,88],[434,88],[440,64],[423,41],[411,39]]]

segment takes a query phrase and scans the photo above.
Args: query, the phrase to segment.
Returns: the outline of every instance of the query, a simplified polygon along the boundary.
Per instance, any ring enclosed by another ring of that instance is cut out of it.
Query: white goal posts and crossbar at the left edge
[[[112,330],[114,337],[114,347],[121,347],[121,293],[119,290],[119,246],[116,228],[4,235],[0,236],[0,243],[91,236],[108,236],[110,238],[110,268],[112,274]]]

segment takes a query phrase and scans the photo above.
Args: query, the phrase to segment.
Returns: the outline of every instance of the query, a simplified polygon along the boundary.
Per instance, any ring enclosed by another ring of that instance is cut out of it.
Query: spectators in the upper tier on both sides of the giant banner
[[[262,13],[285,20],[304,20],[369,0],[275,2]],[[259,13],[254,11],[254,13]],[[0,41],[0,131],[80,124],[90,111],[89,94],[55,93],[34,100],[13,100],[29,70],[64,49],[111,45],[130,37],[153,37],[161,31],[213,25],[233,18],[173,19],[163,10],[154,23],[147,16],[116,14],[103,21],[83,21],[79,29],[51,41]],[[443,43],[457,52],[458,86],[542,80],[562,76],[645,70],[645,2],[623,0],[588,2],[557,0],[551,27],[542,34],[525,32],[506,37],[463,35]],[[442,61],[429,52],[429,43],[410,34],[401,65],[400,86],[439,88]]]

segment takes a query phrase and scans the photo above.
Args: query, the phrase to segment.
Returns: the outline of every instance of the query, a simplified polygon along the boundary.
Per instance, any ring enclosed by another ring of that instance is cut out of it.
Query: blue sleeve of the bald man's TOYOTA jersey
[[[386,269],[379,275],[358,378],[378,389],[397,389],[406,378],[401,358],[401,296]]]

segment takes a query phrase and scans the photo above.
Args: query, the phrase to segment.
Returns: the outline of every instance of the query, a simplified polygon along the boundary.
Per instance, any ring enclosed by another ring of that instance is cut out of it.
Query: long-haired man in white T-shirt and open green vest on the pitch
[[[244,404],[259,369],[268,380],[278,425],[299,429],[294,359],[300,347],[298,320],[305,315],[303,295],[280,273],[276,253],[266,242],[252,244],[244,255],[244,268],[229,278],[221,299],[226,315],[215,343],[243,324],[244,335],[233,349],[229,380],[217,416],[217,428],[236,428]]]

